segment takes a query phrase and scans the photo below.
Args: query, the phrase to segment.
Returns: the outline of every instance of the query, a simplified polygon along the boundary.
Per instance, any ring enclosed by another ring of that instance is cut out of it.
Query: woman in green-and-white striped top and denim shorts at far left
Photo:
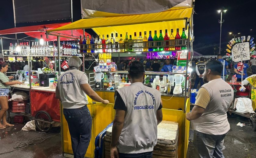
[[[0,129],[5,129],[6,126],[14,126],[12,124],[9,124],[6,120],[6,111],[8,110],[8,96],[10,92],[10,85],[14,84],[22,84],[22,82],[19,81],[9,81],[13,77],[7,77],[5,76],[5,72],[8,70],[8,64],[5,62],[0,62],[0,120],[3,120],[3,124],[0,122]]]

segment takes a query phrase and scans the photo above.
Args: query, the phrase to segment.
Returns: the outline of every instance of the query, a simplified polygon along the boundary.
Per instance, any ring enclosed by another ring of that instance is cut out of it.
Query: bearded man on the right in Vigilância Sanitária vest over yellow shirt
[[[222,147],[229,131],[226,112],[233,101],[232,87],[222,80],[222,63],[210,60],[205,65],[204,84],[195,106],[187,114],[194,128],[195,158],[224,158]]]

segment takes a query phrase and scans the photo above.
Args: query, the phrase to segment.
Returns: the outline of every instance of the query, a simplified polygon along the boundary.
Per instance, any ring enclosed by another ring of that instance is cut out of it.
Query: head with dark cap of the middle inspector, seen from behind
[[[138,79],[140,77],[143,77],[144,72],[145,68],[143,64],[139,61],[133,61],[128,67],[128,73],[131,78]]]

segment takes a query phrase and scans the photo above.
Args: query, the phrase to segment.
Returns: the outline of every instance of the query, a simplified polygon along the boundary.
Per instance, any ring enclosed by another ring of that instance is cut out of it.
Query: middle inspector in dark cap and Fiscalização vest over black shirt
[[[162,121],[161,94],[143,85],[145,69],[134,61],[128,68],[131,85],[115,92],[116,115],[112,127],[111,158],[151,158]]]

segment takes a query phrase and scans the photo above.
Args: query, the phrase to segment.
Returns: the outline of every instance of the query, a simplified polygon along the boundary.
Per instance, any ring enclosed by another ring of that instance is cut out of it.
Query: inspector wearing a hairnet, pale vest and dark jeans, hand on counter
[[[91,140],[92,117],[87,108],[87,95],[103,104],[109,103],[92,90],[87,75],[79,70],[81,64],[79,57],[70,57],[69,70],[59,76],[56,87],[56,98],[61,101],[68,122],[74,158],[84,157]]]

